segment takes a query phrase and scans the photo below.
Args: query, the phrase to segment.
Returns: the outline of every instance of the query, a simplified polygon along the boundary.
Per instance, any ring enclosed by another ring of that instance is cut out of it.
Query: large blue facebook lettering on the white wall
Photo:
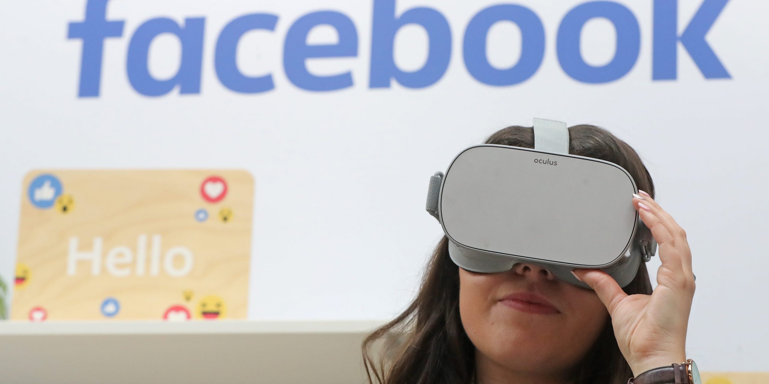
[[[731,78],[717,54],[705,40],[729,0],[704,0],[684,26],[678,25],[677,0],[653,0],[652,81],[677,78],[678,47],[684,48],[704,78]],[[107,20],[108,0],[87,0],[85,18],[71,22],[68,38],[82,41],[78,96],[98,97],[101,89],[102,54],[108,38],[123,38],[125,21]],[[617,43],[614,57],[604,65],[590,65],[581,54],[581,31],[594,18],[614,25]],[[275,32],[279,15],[252,13],[233,18],[218,31],[213,49],[214,67],[222,86],[244,94],[258,94],[275,88],[271,74],[249,76],[237,65],[238,41],[248,31]],[[521,30],[521,55],[509,68],[496,68],[488,61],[487,35],[498,22],[512,22]],[[157,97],[178,88],[180,94],[199,94],[203,61],[205,18],[151,18],[139,25],[128,40],[126,75],[139,94]],[[308,44],[310,31],[319,26],[334,28],[334,44]],[[544,24],[534,9],[517,4],[491,5],[478,11],[464,26],[452,31],[446,17],[435,8],[414,7],[396,12],[395,0],[373,0],[371,12],[371,55],[368,88],[390,88],[393,81],[406,88],[424,88],[441,80],[451,61],[452,38],[461,38],[462,59],[468,74],[476,81],[504,87],[528,80],[540,68],[546,46],[554,46],[561,69],[575,81],[602,84],[628,74],[638,61],[641,28],[634,13],[618,2],[584,2],[571,8],[558,25],[554,45],[546,45]],[[415,71],[404,71],[393,58],[397,32],[405,25],[419,25],[428,35],[427,60]],[[171,34],[181,43],[180,64],[174,76],[158,79],[148,68],[149,47],[161,34]],[[275,37],[279,38],[279,37]],[[283,36],[282,69],[298,88],[307,91],[335,91],[352,87],[351,71],[318,75],[308,71],[310,58],[358,58],[360,36],[355,21],[337,11],[318,11],[302,15],[291,23]]]

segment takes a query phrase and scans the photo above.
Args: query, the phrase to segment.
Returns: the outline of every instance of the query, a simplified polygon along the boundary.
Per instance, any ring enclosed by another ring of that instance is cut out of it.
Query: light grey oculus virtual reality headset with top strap
[[[426,209],[441,223],[451,260],[498,273],[534,263],[590,288],[571,270],[594,268],[627,286],[657,252],[618,164],[569,154],[566,123],[534,119],[534,149],[481,144],[430,178]]]

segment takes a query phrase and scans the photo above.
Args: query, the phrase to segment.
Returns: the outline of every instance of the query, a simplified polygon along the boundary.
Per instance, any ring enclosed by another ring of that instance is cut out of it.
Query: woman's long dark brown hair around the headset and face
[[[654,183],[634,149],[611,132],[594,125],[569,128],[569,154],[618,164],[631,174],[640,190],[654,197]],[[531,127],[503,128],[486,144],[534,148]],[[625,293],[651,294],[645,263],[638,267]],[[378,342],[382,342],[381,344]],[[378,359],[371,349],[381,347]],[[362,344],[370,384],[470,384],[475,376],[475,347],[459,316],[459,268],[448,256],[444,236],[435,247],[422,276],[419,293],[391,322],[375,329]],[[611,321],[576,370],[574,384],[625,384],[633,376],[622,356]]]

